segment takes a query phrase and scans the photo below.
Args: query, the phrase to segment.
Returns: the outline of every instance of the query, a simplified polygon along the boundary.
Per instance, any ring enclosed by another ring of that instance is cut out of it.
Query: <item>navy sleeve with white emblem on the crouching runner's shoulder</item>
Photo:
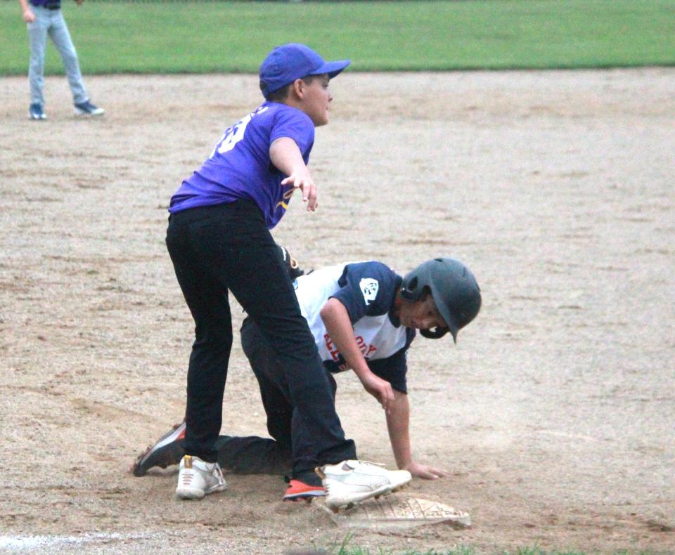
[[[396,296],[394,270],[381,262],[347,264],[338,280],[340,289],[333,293],[349,313],[352,324],[364,316],[387,314]]]

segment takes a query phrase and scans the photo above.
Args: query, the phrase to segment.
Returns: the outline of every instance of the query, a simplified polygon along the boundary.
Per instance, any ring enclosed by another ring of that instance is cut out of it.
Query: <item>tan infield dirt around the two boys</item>
[[[193,323],[163,244],[170,195],[256,107],[255,77],[89,77],[102,119],[46,79],[0,79],[0,549],[281,553],[345,530],[283,504],[276,476],[203,502],[169,471],[134,478],[178,422]],[[675,550],[675,70],[357,74],[331,85],[311,168],[274,230],[307,268],[464,261],[478,318],[409,353],[416,459],[449,477],[408,495],[473,527],[359,530],[354,546],[482,552]],[[240,311],[233,309],[235,327]],[[393,465],[353,374],[338,410]],[[238,345],[224,432],[264,434]]]

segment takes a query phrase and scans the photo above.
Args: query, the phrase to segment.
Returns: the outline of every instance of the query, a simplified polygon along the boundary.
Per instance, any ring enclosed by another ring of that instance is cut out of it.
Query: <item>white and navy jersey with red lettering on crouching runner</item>
[[[415,330],[402,326],[392,314],[402,282],[381,262],[328,266],[295,280],[300,310],[314,335],[323,365],[330,372],[349,370],[321,319],[321,308],[335,297],[347,308],[356,344],[373,374],[389,381],[397,391],[407,393],[406,351]]]

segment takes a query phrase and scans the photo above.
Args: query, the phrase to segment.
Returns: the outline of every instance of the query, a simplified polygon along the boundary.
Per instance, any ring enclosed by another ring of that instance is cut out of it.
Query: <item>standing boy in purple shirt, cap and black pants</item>
[[[325,62],[311,48],[274,48],[260,66],[265,102],[226,129],[210,157],[188,177],[169,203],[167,249],[176,278],[195,320],[188,366],[186,433],[176,495],[200,499],[226,488],[215,445],[221,429],[223,393],[232,345],[228,292],[269,344],[278,360],[275,379],[314,440],[315,462],[294,464],[293,478],[340,491],[358,501],[398,488],[407,471],[387,471],[355,461],[354,442],[345,438],[335,413],[330,381],[323,370],[307,320],[269,229],[300,190],[307,209],[317,206],[316,185],[307,163],[314,127],[328,123],[331,78],[349,60]],[[361,378],[387,406],[390,384],[372,372]]]

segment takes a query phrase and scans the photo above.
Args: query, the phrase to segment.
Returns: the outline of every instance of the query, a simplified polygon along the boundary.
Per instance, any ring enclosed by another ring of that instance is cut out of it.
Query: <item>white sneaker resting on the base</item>
[[[326,488],[326,505],[337,511],[370,497],[396,491],[411,481],[407,470],[387,470],[365,461],[343,461],[316,469]]]

